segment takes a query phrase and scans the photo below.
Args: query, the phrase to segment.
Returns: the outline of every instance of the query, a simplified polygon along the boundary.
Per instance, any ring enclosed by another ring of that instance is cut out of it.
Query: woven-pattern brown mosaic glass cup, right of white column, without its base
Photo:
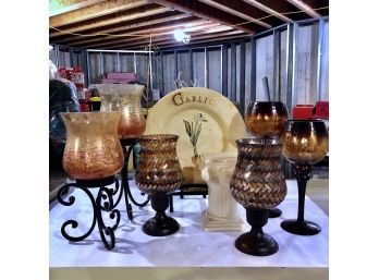
[[[237,139],[239,158],[231,193],[245,208],[271,209],[286,195],[281,167],[282,144],[276,139]]]

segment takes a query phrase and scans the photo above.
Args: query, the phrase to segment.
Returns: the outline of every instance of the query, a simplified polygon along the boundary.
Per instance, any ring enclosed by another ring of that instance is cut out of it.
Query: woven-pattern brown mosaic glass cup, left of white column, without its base
[[[140,155],[136,184],[147,194],[170,193],[183,182],[182,168],[176,155],[179,136],[171,134],[139,137]]]

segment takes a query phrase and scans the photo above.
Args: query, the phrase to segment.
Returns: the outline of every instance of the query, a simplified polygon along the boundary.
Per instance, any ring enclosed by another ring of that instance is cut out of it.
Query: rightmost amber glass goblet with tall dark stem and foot
[[[281,136],[283,156],[294,163],[298,188],[297,219],[284,220],[283,230],[298,235],[314,235],[321,228],[304,219],[305,191],[313,165],[321,161],[329,150],[329,135],[321,120],[289,120]]]

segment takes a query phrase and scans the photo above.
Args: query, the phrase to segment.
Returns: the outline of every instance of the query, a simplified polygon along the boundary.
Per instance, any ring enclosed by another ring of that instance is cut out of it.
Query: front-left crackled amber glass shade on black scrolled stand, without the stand
[[[80,180],[103,179],[118,173],[124,162],[118,137],[119,112],[61,113],[66,143],[64,171]]]

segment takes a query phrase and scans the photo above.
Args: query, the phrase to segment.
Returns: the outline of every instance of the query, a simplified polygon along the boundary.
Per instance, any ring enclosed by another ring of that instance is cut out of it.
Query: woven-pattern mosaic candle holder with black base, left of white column
[[[143,135],[139,137],[140,154],[135,181],[140,191],[151,199],[156,216],[148,219],[143,231],[152,236],[164,236],[180,228],[176,220],[166,215],[168,193],[183,183],[182,168],[176,155],[179,136],[172,134]]]

